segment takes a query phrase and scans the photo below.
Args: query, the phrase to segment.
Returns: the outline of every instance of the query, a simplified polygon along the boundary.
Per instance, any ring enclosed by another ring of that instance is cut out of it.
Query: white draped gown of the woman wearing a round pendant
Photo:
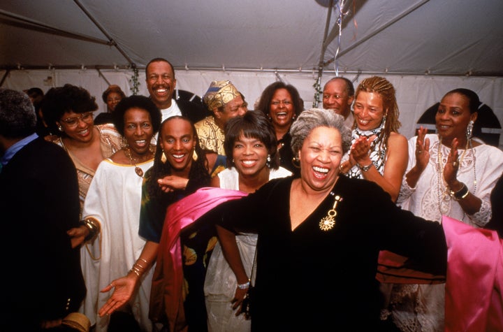
[[[154,164],[154,159],[136,166],[143,173]],[[110,317],[99,317],[98,310],[112,291],[101,293],[112,280],[123,277],[143,250],[145,240],[138,235],[142,181],[135,166],[115,164],[110,159],[101,161],[87,192],[82,216],[94,217],[101,223],[101,233],[92,244],[82,246],[80,261],[87,287],[87,296],[80,311],[96,323],[96,332],[106,331]],[[142,275],[142,282],[131,298],[131,311],[144,331],[152,331],[148,318],[150,268]]]

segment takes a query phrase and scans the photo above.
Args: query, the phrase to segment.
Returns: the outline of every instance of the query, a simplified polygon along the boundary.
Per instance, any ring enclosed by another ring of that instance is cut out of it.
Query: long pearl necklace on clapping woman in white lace
[[[473,150],[472,146],[472,139],[469,138],[467,141],[467,144],[465,146],[465,150],[462,152],[461,157],[459,159],[459,168],[458,171],[460,170],[462,166],[462,161],[465,159],[465,154],[467,154],[468,147],[470,149],[471,154],[473,155],[473,172],[474,172],[474,188],[473,192],[476,191],[476,172],[475,172],[475,152]],[[438,207],[439,207],[439,212],[441,215],[445,215],[447,212],[449,212],[449,206],[446,206],[445,208],[442,207],[442,205],[448,205],[449,201],[451,201],[451,190],[449,189],[449,185],[444,180],[444,166],[445,164],[442,164],[442,138],[439,138],[438,140],[438,152],[437,152],[437,164],[435,165],[437,168],[437,199],[438,199]],[[443,184],[443,185],[442,185]],[[442,189],[444,187],[445,189]]]

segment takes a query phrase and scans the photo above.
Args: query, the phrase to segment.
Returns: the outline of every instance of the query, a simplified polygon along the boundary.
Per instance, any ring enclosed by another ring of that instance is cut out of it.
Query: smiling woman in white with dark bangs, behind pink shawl
[[[291,171],[279,166],[275,132],[261,112],[250,110],[229,120],[224,149],[229,167],[212,179],[212,187],[251,193],[271,179],[291,175]],[[239,250],[235,254],[242,266],[229,266],[220,244],[215,245],[204,285],[208,331],[250,331],[250,321],[235,313],[249,287],[256,241],[256,233],[239,233],[235,237]]]

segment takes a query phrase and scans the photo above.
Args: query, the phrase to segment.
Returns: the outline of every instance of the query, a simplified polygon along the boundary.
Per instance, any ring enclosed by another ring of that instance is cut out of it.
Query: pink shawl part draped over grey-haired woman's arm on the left
[[[187,331],[182,298],[184,277],[180,231],[217,205],[243,196],[247,193],[204,187],[168,206],[150,291],[152,321],[163,322],[167,317],[169,331]]]

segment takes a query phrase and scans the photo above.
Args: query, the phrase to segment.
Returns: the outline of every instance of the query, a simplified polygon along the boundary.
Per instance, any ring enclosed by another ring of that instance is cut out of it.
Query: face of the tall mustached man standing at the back
[[[168,62],[152,62],[147,67],[147,89],[156,106],[163,110],[171,106],[175,92],[175,73]]]

